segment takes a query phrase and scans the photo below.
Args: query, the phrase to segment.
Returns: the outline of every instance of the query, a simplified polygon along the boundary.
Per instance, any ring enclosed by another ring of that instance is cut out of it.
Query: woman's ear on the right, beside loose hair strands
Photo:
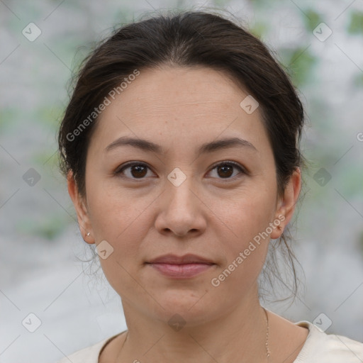
[[[274,220],[281,220],[279,228],[274,228],[271,238],[276,240],[284,232],[284,228],[289,224],[294,215],[296,202],[301,191],[301,169],[297,167],[286,184],[284,194],[279,198],[277,211]]]

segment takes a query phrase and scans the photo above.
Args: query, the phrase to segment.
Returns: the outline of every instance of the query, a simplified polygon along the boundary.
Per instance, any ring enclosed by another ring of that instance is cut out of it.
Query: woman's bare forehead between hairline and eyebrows
[[[258,108],[250,114],[241,108],[246,96],[227,73],[207,67],[141,69],[101,113],[94,137],[104,147],[123,135],[152,135],[167,148],[218,135],[259,143],[267,140],[264,127]]]

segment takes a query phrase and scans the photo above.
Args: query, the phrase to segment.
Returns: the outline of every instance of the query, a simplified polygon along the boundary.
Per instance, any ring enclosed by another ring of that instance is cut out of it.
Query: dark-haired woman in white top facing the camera
[[[218,15],[157,16],[96,48],[60,155],[128,330],[61,362],[363,361],[362,343],[259,303],[301,191],[303,120],[267,48]]]

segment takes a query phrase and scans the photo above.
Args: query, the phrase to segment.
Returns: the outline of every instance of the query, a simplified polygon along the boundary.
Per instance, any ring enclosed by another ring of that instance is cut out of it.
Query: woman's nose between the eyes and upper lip
[[[186,180],[179,186],[167,181],[164,197],[160,199],[160,212],[155,228],[162,235],[174,234],[188,237],[202,234],[206,230],[206,208],[200,196]]]

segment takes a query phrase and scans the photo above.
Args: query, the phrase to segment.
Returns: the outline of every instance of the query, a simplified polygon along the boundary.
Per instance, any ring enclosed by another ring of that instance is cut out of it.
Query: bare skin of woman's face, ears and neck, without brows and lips
[[[86,160],[86,196],[79,196],[72,172],[67,179],[84,240],[106,240],[113,247],[101,267],[121,296],[128,325],[123,349],[125,334],[106,347],[99,362],[267,362],[257,278],[269,238],[279,238],[294,213],[301,174],[297,169],[284,195],[277,195],[272,148],[259,108],[247,114],[240,107],[246,96],[223,72],[165,66],[142,70],[101,114]],[[166,152],[132,146],[105,151],[121,136],[150,140]],[[255,149],[196,155],[203,143],[229,137]],[[143,177],[130,167],[115,174],[132,161],[147,164]],[[228,161],[245,172],[218,172],[216,163]],[[186,176],[179,186],[167,179],[175,167]],[[281,229],[274,228],[213,286],[211,279],[281,216]],[[166,253],[194,253],[214,265],[196,277],[171,279],[145,264]],[[179,331],[168,324],[176,313],[186,322]],[[275,314],[269,319],[269,362],[293,362],[306,328]]]

